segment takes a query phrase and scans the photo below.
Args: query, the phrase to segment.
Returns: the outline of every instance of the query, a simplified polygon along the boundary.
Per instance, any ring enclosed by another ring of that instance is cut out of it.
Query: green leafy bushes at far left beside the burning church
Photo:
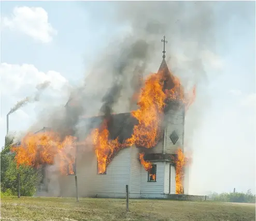
[[[1,192],[17,194],[18,180],[20,173],[20,194],[21,196],[33,196],[36,192],[36,184],[40,179],[38,171],[31,166],[21,165],[17,168],[15,153],[10,152],[12,140],[9,141],[1,151]]]

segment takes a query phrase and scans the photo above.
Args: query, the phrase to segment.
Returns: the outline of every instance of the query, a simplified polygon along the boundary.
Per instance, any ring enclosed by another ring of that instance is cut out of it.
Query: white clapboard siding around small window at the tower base
[[[157,165],[157,181],[148,182],[148,171],[141,167],[141,195],[164,193],[164,162],[152,162],[152,164]]]

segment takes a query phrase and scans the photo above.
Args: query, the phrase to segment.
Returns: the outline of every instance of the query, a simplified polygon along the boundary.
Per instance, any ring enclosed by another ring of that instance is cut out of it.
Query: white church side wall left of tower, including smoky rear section
[[[125,197],[125,185],[130,180],[130,149],[125,148],[117,153],[107,166],[105,175],[97,174],[94,152],[78,155],[76,175],[79,197]],[[49,183],[49,196],[76,196],[74,175],[54,176],[51,174],[54,179]]]

